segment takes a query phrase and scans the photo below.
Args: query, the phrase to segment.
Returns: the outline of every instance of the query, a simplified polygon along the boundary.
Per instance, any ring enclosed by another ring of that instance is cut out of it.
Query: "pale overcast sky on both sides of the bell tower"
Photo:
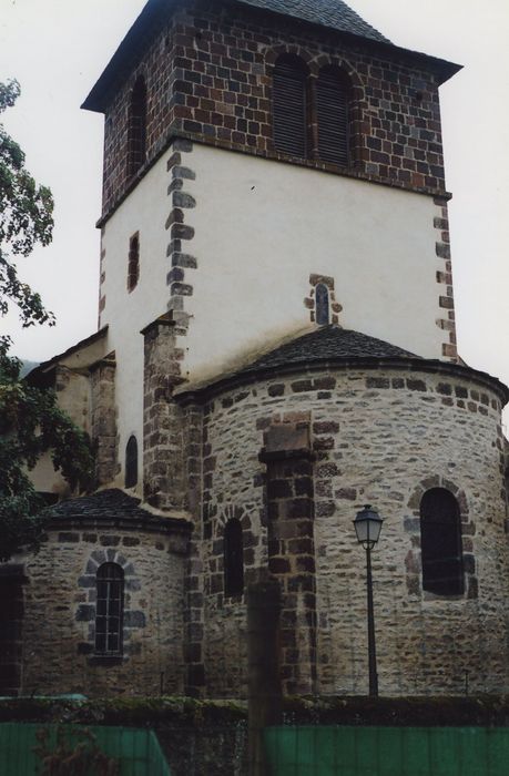
[[[0,81],[22,96],[4,124],[55,198],[50,247],[23,277],[58,317],[22,331],[0,318],[16,353],[50,358],[96,329],[102,116],[80,110],[143,0],[0,0]],[[445,84],[441,113],[459,350],[509,384],[509,2],[352,0],[398,45],[465,65]]]

